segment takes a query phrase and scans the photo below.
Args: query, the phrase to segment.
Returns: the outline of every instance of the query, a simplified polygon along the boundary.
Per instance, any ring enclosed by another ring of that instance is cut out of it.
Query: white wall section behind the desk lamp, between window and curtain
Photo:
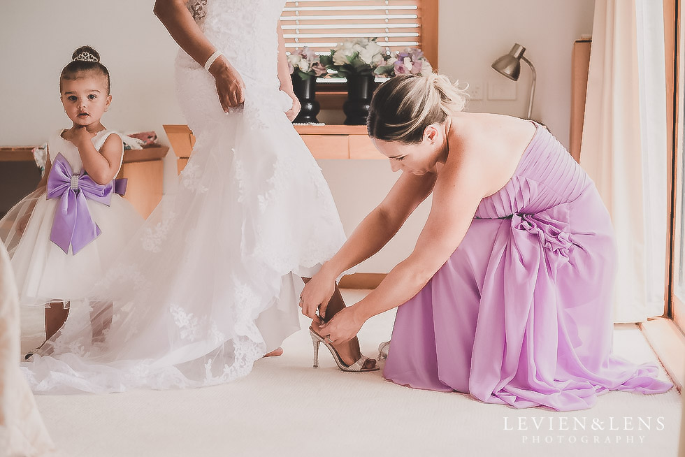
[[[531,70],[521,64],[518,82],[510,82],[490,65],[514,43],[538,73],[533,119],[549,127],[568,147],[571,51],[573,41],[592,33],[594,0],[440,0],[438,31],[440,72],[460,82],[509,83],[514,101],[471,101],[468,110],[525,117]]]

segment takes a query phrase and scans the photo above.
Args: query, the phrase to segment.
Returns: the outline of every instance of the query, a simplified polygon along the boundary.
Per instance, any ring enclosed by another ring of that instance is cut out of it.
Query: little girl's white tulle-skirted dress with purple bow
[[[143,223],[117,194],[124,193],[118,182],[100,186],[89,180],[78,149],[63,132],[48,140],[48,188],[32,192],[0,220],[0,240],[10,254],[22,306],[62,301],[73,310]],[[96,133],[96,150],[112,134]],[[22,233],[17,226],[29,212]]]

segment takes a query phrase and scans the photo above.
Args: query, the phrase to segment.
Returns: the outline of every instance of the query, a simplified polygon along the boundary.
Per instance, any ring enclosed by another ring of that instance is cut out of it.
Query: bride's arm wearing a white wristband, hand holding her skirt
[[[174,41],[198,64],[204,66],[217,48],[210,43],[195,23],[185,2],[157,0],[154,2],[153,11]],[[243,78],[226,57],[219,56],[210,66],[209,71],[216,80],[219,102],[224,111],[227,112],[229,108],[234,108],[245,101]]]

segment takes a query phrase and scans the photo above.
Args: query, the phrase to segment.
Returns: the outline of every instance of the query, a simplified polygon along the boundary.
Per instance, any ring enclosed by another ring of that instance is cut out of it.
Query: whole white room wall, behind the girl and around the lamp
[[[7,3],[0,15],[0,145],[36,145],[51,131],[69,126],[59,103],[59,72],[84,44],[101,53],[112,75],[113,106],[103,117],[108,128],[154,130],[166,143],[162,124],[185,123],[173,88],[177,48],[152,15],[154,1]],[[538,69],[533,117],[568,144],[571,47],[580,34],[591,33],[592,12],[593,0],[440,0],[440,71],[463,82],[505,80],[490,64],[515,41],[521,43]],[[473,101],[468,109],[524,115],[528,76],[523,68],[517,100]],[[347,233],[397,177],[385,161],[324,160],[320,165]],[[165,172],[165,188],[173,191],[173,154]],[[359,271],[384,273],[405,258],[429,204],[421,205],[396,239]]]

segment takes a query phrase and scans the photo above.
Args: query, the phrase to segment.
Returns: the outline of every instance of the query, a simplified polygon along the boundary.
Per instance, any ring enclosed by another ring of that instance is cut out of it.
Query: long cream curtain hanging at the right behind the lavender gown
[[[596,0],[580,164],[612,215],[614,321],[663,314],[666,94],[663,3]]]

